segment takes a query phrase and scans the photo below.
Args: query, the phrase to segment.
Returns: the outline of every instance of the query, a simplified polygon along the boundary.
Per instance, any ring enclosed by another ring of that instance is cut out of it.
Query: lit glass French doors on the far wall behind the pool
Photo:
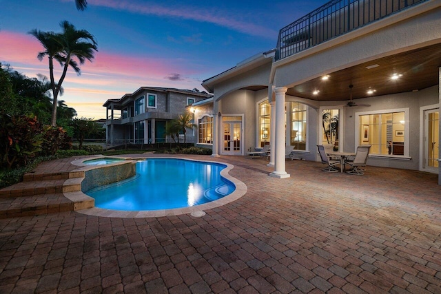
[[[237,120],[242,117],[223,116],[223,155],[242,155],[242,122]]]

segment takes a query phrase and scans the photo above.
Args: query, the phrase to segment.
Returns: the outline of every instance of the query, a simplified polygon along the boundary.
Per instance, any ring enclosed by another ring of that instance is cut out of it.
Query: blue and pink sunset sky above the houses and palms
[[[61,32],[67,20],[98,43],[81,76],[69,70],[59,97],[78,117],[105,118],[103,103],[141,86],[198,88],[249,56],[276,47],[278,30],[327,3],[290,1],[0,0],[0,62],[29,77],[49,76],[32,29]],[[61,74],[57,63],[56,80]]]

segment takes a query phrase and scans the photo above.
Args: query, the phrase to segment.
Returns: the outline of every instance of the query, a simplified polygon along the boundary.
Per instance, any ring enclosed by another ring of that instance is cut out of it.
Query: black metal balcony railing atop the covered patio
[[[276,60],[428,0],[333,0],[281,29]]]

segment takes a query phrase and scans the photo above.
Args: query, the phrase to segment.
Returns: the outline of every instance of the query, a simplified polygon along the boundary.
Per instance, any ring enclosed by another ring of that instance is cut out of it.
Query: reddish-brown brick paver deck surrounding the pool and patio
[[[288,160],[276,179],[265,159],[214,160],[248,191],[201,218],[0,220],[0,293],[441,293],[438,175]]]

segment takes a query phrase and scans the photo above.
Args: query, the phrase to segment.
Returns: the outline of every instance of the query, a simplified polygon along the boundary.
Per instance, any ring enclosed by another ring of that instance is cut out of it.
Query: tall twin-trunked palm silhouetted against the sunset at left
[[[49,59],[50,85],[53,96],[51,125],[54,127],[57,125],[57,98],[61,90],[61,84],[68,72],[68,67],[72,67],[76,74],[80,75],[79,64],[83,65],[86,59],[92,61],[94,52],[98,51],[94,36],[90,32],[76,30],[74,25],[68,21],[62,21],[60,25],[63,29],[60,34],[39,30],[29,32],[45,48],[44,51],[39,52],[37,58],[41,61],[44,56],[48,56]],[[58,83],[55,83],[54,80],[54,59],[63,67]]]

